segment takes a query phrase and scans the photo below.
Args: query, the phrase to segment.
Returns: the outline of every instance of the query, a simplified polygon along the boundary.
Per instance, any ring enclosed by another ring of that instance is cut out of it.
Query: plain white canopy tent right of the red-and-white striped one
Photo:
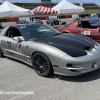
[[[52,9],[57,10],[59,14],[62,13],[73,13],[73,12],[84,12],[84,8],[76,6],[66,0],[62,0]]]

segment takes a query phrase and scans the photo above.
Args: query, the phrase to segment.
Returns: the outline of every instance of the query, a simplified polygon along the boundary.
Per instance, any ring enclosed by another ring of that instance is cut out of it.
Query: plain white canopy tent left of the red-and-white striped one
[[[0,17],[1,16],[21,16],[30,15],[29,9],[18,7],[8,1],[5,1],[0,5]]]

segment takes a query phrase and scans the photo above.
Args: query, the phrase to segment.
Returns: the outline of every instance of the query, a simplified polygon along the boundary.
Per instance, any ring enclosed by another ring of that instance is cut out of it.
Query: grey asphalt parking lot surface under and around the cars
[[[72,20],[67,19],[67,23]],[[3,27],[11,24],[2,23]],[[0,100],[100,100],[100,69],[73,77],[55,74],[41,77],[31,66],[4,57],[0,58],[0,91],[34,92],[0,94]]]

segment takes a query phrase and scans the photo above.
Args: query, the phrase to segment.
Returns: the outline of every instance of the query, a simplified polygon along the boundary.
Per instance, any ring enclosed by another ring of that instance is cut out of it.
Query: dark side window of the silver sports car
[[[6,37],[13,38],[17,36],[22,36],[18,29],[9,28],[5,34]]]

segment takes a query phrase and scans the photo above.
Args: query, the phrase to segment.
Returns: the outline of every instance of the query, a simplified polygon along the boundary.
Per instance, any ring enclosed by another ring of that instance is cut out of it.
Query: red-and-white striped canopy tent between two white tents
[[[57,10],[53,10],[44,6],[38,6],[35,9],[31,10],[31,15],[37,15],[37,14],[57,14]]]

